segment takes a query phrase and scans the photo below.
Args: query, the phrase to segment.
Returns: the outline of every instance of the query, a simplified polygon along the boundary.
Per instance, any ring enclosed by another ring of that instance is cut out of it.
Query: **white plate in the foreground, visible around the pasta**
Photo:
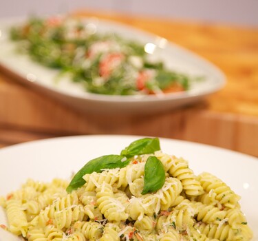
[[[27,178],[69,178],[88,160],[119,154],[139,136],[74,136],[52,138],[0,149],[0,196],[18,189]],[[258,240],[258,159],[208,145],[160,138],[162,151],[189,160],[195,174],[211,172],[241,195],[241,209]],[[0,210],[1,211],[1,210]],[[3,223],[0,213],[0,224]],[[0,241],[6,232],[0,229]]]

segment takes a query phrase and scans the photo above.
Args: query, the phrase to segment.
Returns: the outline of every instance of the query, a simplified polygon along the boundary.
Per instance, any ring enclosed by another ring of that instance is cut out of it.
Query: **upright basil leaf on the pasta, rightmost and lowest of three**
[[[149,156],[144,166],[142,194],[158,191],[164,185],[166,172],[163,164],[155,156]]]

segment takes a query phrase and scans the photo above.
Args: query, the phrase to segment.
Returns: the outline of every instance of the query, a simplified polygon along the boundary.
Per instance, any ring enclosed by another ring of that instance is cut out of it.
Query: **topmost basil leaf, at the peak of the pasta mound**
[[[128,147],[121,151],[122,156],[130,158],[135,155],[153,154],[160,150],[159,138],[142,138],[133,141]]]

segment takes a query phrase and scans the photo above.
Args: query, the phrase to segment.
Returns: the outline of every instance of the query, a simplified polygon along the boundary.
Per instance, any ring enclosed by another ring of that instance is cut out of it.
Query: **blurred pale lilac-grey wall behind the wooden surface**
[[[0,17],[78,9],[258,26],[258,0],[0,0]]]

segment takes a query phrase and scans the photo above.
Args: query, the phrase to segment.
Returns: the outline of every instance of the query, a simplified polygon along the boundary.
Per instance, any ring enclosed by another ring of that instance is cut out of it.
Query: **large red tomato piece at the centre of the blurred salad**
[[[101,61],[100,61],[100,76],[104,78],[108,78],[114,69],[120,65],[124,59],[124,55],[121,53],[115,54],[107,54]]]

